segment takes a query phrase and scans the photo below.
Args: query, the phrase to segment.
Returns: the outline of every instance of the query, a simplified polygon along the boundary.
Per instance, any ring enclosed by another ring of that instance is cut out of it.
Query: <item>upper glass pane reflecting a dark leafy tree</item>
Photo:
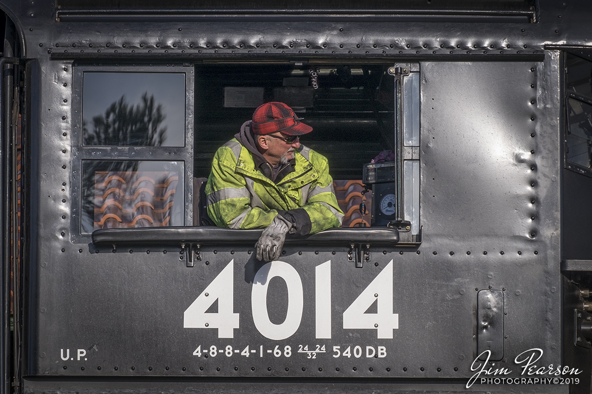
[[[85,72],[86,146],[185,146],[185,73]]]

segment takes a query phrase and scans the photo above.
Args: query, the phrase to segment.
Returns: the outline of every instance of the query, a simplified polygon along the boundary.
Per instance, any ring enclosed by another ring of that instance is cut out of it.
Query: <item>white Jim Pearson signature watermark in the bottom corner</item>
[[[485,360],[480,360],[482,356],[487,356]],[[538,366],[536,361],[543,356],[543,350],[539,348],[533,348],[520,353],[514,359],[514,364],[519,366],[522,370],[520,376],[564,376],[564,375],[578,375],[582,371],[577,368],[571,368],[568,366],[553,365]],[[479,379],[484,376],[506,376],[512,373],[512,370],[506,367],[494,368],[496,363],[490,364],[491,350],[485,350],[481,353],[471,364],[471,371],[475,374],[471,376],[469,381],[466,383],[468,389]]]

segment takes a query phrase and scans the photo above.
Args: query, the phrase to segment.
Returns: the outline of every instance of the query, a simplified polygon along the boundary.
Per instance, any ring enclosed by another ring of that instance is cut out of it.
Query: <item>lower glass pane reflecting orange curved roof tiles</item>
[[[82,232],[183,225],[182,162],[85,160]]]

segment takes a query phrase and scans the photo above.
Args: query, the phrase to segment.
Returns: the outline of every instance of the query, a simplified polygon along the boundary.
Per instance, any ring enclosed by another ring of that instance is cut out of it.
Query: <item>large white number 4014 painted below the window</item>
[[[274,324],[267,313],[268,283],[272,277],[284,279],[288,288],[288,311],[281,324]],[[184,312],[184,328],[217,328],[218,338],[233,338],[239,328],[239,314],[234,313],[234,260],[212,280]],[[315,269],[316,338],[331,338],[331,260]],[[218,301],[218,312],[206,311]],[[302,280],[298,272],[284,261],[263,265],[255,274],[251,290],[252,316],[255,327],[264,337],[284,340],[300,327],[304,309]],[[377,302],[376,313],[365,313]],[[399,328],[398,314],[392,313],[392,260],[370,282],[348,309],[343,312],[343,328],[377,330],[378,338],[392,339]]]

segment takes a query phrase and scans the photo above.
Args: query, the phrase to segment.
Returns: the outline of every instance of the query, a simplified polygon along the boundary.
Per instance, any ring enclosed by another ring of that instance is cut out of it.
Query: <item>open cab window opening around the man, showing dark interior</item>
[[[419,86],[419,64],[200,64],[194,175],[207,180],[217,148],[259,105],[284,102],[313,128],[300,143],[329,162],[342,227],[398,222],[411,241],[420,229]]]

